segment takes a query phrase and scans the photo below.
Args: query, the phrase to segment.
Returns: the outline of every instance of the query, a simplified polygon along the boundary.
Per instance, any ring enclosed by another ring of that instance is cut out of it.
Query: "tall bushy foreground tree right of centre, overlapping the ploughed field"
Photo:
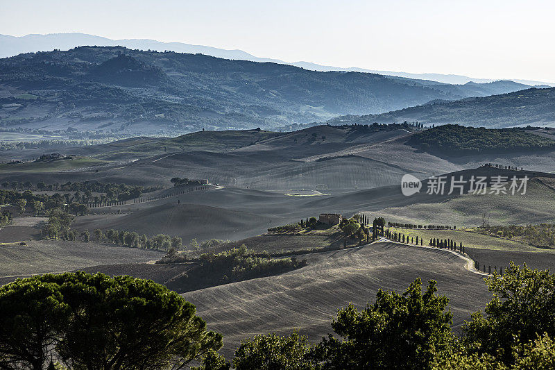
[[[329,335],[318,345],[323,368],[429,369],[454,342],[452,314],[434,280],[424,294],[421,285],[416,279],[403,294],[380,289],[361,312],[352,304],[339,310],[332,328],[343,340]]]

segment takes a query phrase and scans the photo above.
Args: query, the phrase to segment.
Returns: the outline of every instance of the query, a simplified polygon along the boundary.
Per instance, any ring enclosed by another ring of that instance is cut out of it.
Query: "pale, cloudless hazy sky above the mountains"
[[[287,62],[555,82],[555,1],[0,0],[0,33],[83,32]]]

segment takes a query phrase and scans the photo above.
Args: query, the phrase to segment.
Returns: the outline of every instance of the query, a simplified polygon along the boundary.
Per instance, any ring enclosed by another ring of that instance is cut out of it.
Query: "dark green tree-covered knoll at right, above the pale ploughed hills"
[[[555,140],[533,135],[519,128],[486,129],[442,125],[412,135],[407,144],[440,155],[512,153],[555,149]]]

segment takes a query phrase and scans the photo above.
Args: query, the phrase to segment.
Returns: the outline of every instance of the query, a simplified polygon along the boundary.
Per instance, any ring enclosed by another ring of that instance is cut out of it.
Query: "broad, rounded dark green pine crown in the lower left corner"
[[[0,359],[43,369],[184,368],[221,348],[194,305],[151,280],[35,276],[0,288]],[[12,367],[10,367],[12,368]]]

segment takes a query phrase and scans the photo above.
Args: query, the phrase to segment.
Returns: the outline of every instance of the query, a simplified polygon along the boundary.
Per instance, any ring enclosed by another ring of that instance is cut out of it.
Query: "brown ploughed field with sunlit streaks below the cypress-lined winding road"
[[[331,333],[336,310],[375,299],[378,289],[403,291],[416,278],[438,281],[450,299],[454,326],[484,307],[490,293],[482,276],[451,253],[379,243],[357,249],[299,256],[309,265],[280,276],[258,278],[182,294],[196,305],[212,330],[223,333],[223,353],[232,355],[241,339],[298,328],[311,342]]]

